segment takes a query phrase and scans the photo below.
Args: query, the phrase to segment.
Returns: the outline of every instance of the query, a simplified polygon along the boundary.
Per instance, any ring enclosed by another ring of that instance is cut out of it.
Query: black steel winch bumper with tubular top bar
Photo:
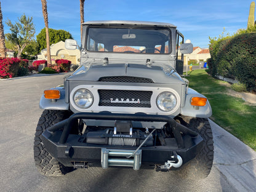
[[[174,138],[166,138],[166,145],[142,146],[140,150],[142,150],[141,164],[143,168],[154,167],[156,164],[164,164],[174,154],[178,154],[184,164],[198,154],[203,144],[202,137],[199,134],[178,124],[178,122],[169,116],[142,113],[76,113],[70,116],[70,118],[49,127],[41,135],[42,143],[44,143],[46,150],[54,158],[62,162],[64,166],[71,167],[76,162],[83,162],[87,166],[100,167],[102,166],[103,148],[134,151],[138,148],[137,146],[110,146],[84,143],[80,135],[70,134],[71,127],[76,119],[167,122],[172,129]]]

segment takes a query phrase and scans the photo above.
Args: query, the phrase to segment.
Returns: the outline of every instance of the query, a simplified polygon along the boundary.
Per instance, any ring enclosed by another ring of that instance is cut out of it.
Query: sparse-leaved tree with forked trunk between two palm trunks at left
[[[17,57],[20,58],[23,49],[31,42],[34,37],[35,28],[33,23],[33,17],[26,17],[23,14],[18,18],[19,22],[12,24],[10,20],[7,20],[6,24],[10,27],[11,33],[6,34],[6,38],[17,47]]]

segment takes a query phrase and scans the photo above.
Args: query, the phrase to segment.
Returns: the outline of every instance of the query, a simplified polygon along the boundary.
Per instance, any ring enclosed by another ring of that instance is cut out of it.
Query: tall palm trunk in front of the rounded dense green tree
[[[42,2],[42,15],[44,15],[44,24],[46,25],[47,63],[52,64],[52,60],[50,59],[50,39],[49,39],[49,27],[48,27],[47,2],[46,0],[41,0],[41,2]]]

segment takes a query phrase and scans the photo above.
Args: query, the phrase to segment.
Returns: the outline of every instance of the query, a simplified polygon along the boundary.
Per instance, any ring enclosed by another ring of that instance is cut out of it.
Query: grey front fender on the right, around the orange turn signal
[[[199,94],[196,90],[188,88],[188,92],[186,94],[185,105],[181,108],[180,114],[185,116],[191,116],[195,118],[209,118],[212,115],[212,108],[210,107],[210,103],[207,100],[205,106],[193,106],[190,104],[192,97],[204,97],[204,95]]]

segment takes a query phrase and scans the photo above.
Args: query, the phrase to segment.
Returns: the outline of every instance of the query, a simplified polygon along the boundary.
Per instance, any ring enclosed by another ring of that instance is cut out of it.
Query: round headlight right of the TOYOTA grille
[[[159,110],[171,111],[177,104],[177,98],[171,92],[162,92],[156,99]]]

